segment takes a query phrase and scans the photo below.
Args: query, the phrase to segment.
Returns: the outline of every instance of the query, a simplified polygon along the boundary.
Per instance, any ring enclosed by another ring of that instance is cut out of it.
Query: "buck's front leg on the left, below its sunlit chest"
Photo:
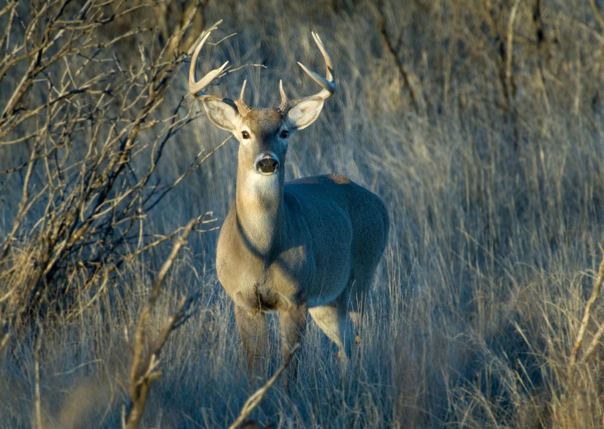
[[[264,374],[266,351],[268,350],[268,334],[266,332],[266,316],[259,309],[236,307],[235,320],[248,359],[250,374]]]

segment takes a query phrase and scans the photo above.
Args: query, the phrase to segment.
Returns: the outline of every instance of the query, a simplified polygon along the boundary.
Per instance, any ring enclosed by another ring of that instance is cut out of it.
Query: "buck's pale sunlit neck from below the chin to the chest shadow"
[[[240,165],[237,168],[235,212],[238,228],[249,251],[263,259],[278,249],[285,231],[283,184],[283,168],[270,176]]]

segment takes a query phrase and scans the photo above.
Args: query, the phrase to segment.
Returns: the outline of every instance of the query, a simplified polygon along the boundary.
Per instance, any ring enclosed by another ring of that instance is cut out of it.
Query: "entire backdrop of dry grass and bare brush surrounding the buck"
[[[3,0],[0,427],[136,427],[149,387],[142,427],[228,427],[254,391],[213,266],[237,148],[185,84],[187,50],[218,19],[211,40],[239,34],[204,50],[204,71],[234,65],[211,91],[246,78],[252,106],[275,105],[280,78],[316,91],[296,61],[323,70],[321,34],[338,90],[292,141],[289,177],[345,174],[392,221],[358,363],[342,372],[309,324],[291,395],[277,383],[252,418],[602,427],[603,13]]]

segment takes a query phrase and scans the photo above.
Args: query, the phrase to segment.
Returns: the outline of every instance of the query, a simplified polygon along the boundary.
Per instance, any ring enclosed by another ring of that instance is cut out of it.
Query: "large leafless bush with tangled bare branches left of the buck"
[[[0,180],[14,214],[0,244],[5,331],[33,313],[69,313],[85,291],[86,307],[124,261],[169,238],[144,226],[175,185],[154,177],[165,145],[195,117],[184,95],[170,105],[166,94],[199,33],[201,3],[182,7],[176,25],[155,25],[169,4],[0,10]]]

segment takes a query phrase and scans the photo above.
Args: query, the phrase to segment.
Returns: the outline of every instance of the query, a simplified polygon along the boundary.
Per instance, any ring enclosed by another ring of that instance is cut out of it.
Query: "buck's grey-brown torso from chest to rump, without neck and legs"
[[[242,308],[332,303],[352,278],[352,267],[377,265],[385,243],[367,236],[385,237],[385,208],[374,194],[337,175],[279,187],[271,200],[241,195],[246,191],[237,187],[216,251],[220,283]],[[237,204],[250,197],[259,198],[259,205]],[[274,213],[259,215],[263,203],[274,205]]]

